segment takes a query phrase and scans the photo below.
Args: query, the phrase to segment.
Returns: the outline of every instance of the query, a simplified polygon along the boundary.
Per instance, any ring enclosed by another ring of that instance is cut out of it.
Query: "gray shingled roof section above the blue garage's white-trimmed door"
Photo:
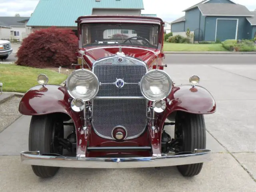
[[[206,3],[198,5],[203,16],[254,16],[246,6],[230,3]]]

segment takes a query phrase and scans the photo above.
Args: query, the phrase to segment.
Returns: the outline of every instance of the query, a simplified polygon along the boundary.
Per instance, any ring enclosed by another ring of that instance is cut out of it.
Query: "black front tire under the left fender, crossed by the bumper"
[[[62,155],[63,148],[58,145],[58,138],[63,137],[64,127],[60,118],[53,115],[32,116],[28,138],[30,151]],[[58,172],[59,167],[32,165],[32,170],[38,177],[49,178]]]

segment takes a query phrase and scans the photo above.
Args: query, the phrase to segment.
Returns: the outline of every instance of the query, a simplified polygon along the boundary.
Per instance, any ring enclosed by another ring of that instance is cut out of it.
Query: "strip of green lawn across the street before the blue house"
[[[227,51],[222,44],[164,43],[164,51]]]

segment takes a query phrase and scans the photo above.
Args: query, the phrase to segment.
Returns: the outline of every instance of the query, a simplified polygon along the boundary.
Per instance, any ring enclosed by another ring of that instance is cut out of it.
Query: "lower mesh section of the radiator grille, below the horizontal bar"
[[[138,137],[146,128],[146,99],[94,99],[92,106],[93,128],[103,138],[113,139],[116,126],[126,128],[126,139]]]

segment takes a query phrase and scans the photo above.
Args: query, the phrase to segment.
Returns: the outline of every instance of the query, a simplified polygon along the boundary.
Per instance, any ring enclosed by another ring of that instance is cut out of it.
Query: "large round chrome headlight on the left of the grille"
[[[66,86],[72,98],[88,101],[96,96],[100,84],[93,72],[79,69],[70,74],[66,81]]]

